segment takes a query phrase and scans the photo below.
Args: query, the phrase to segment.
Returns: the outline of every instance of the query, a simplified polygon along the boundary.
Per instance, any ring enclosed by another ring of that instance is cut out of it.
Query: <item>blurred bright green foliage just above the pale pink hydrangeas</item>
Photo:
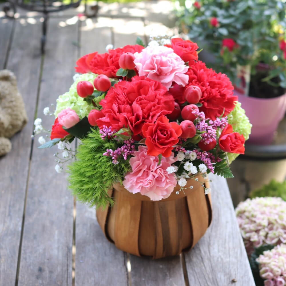
[[[271,180],[269,184],[252,191],[249,196],[251,198],[267,196],[281,197],[286,201],[286,180],[282,183]]]

